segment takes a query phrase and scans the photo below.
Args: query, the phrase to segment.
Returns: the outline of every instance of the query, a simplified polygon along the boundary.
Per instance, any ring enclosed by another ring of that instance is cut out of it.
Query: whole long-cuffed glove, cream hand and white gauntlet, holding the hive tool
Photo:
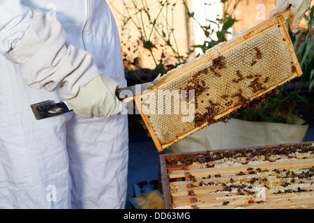
[[[60,22],[34,10],[33,22],[6,58],[20,64],[22,79],[35,89],[54,91],[83,118],[112,116],[123,111],[115,95],[123,87],[102,75],[89,52],[66,45]]]

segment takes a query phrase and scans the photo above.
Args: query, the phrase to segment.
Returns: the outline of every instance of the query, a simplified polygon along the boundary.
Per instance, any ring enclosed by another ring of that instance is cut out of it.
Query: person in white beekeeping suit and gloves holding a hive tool
[[[0,208],[124,208],[126,80],[106,1],[0,0],[0,52]],[[36,121],[45,100],[75,113]]]

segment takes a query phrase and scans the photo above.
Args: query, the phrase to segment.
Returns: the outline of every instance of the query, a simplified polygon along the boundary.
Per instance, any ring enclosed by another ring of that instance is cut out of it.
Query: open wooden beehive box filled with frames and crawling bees
[[[314,208],[314,142],[160,155],[167,209]]]

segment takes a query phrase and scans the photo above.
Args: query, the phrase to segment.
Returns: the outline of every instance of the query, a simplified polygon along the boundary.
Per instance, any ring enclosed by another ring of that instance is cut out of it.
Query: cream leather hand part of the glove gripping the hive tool
[[[105,75],[95,77],[83,86],[77,96],[67,100],[73,111],[83,118],[109,117],[123,112],[122,102],[115,95],[122,84]]]

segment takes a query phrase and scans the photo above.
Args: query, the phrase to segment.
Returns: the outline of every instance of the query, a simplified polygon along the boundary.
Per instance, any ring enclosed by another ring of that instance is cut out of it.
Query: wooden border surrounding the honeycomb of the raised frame
[[[239,36],[237,35],[237,37],[234,38],[234,40],[227,41],[225,43],[220,44],[220,47],[217,49],[217,53],[210,54],[210,55],[205,53],[202,56],[200,56],[199,58],[197,58],[193,61],[190,61],[189,63],[186,63],[185,65],[181,66],[181,68],[171,70],[166,75],[161,77],[160,80],[154,86],[151,86],[149,88],[150,91],[148,93],[144,93],[142,95],[135,96],[135,103],[137,105],[137,108],[140,110],[143,121],[144,121],[145,125],[147,125],[147,130],[149,131],[149,134],[150,134],[151,138],[153,139],[154,144],[156,145],[156,148],[158,149],[159,152],[163,151],[165,148],[176,143],[177,141],[180,141],[181,139],[188,137],[188,135],[193,134],[194,132],[197,132],[198,130],[201,130],[202,128],[206,127],[207,123],[204,123],[203,125],[201,125],[197,128],[194,128],[193,130],[190,130],[186,134],[183,134],[183,135],[177,137],[177,139],[174,139],[170,143],[160,144],[160,141],[158,140],[158,137],[155,133],[154,126],[152,126],[151,122],[149,121],[149,116],[147,116],[147,114],[145,114],[143,109],[142,109],[141,100],[142,100],[142,98],[146,97],[147,95],[154,93],[154,92],[158,91],[159,89],[162,89],[164,86],[167,86],[168,84],[171,84],[172,82],[177,81],[181,77],[184,77],[184,75],[186,75],[186,73],[188,73],[192,70],[196,70],[197,68],[200,68],[202,66],[202,64],[208,63],[209,61],[212,61],[213,59],[217,58],[218,56],[226,54],[227,52],[230,52],[232,49],[235,49],[236,47],[243,45],[244,43],[252,40],[253,38],[257,38],[258,36],[261,36],[263,33],[266,33],[267,31],[274,29],[274,27],[278,26],[278,27],[281,27],[281,29],[283,31],[283,34],[285,36],[285,40],[287,42],[290,54],[291,54],[292,59],[293,59],[294,67],[296,68],[296,70],[295,70],[294,74],[289,79],[285,79],[282,83],[276,84],[275,86],[272,86],[271,88],[258,93],[257,95],[254,96],[254,98],[258,98],[261,95],[263,95],[264,93],[267,93],[268,91],[271,91],[272,89],[275,89],[276,86],[284,84],[285,82],[290,81],[291,79],[294,79],[295,77],[299,77],[302,75],[302,70],[301,70],[299,63],[297,61],[297,56],[295,56],[294,48],[293,48],[292,42],[290,40],[290,36],[287,32],[287,28],[285,26],[285,19],[289,16],[290,16],[290,9],[287,9],[287,10],[285,10],[285,12],[280,13],[280,14],[270,18],[269,20],[266,20],[266,21],[262,22],[261,24],[258,24],[257,26],[255,26],[251,29],[248,29],[246,31],[241,32],[240,33],[241,35],[239,35]],[[239,107],[241,107],[241,106],[239,106]],[[234,107],[234,109],[237,109],[237,107]],[[228,111],[223,112],[222,114],[215,116],[215,118],[218,119],[218,118],[223,117],[229,113],[230,112],[228,112]]]

